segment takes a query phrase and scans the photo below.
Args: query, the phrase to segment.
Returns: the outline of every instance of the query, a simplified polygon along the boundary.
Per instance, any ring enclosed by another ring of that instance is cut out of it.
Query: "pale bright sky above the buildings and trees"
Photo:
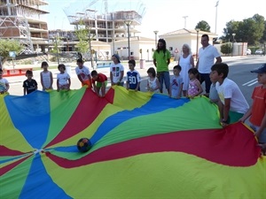
[[[66,13],[82,11],[90,2],[97,2],[90,6],[98,13],[105,12],[103,0],[46,0],[49,3],[47,15],[49,29],[74,29],[69,25]],[[266,0],[108,0],[108,11],[145,11],[142,25],[138,27],[141,36],[154,37],[154,30],[158,35],[173,32],[182,28],[194,29],[201,21],[207,21],[211,32],[223,35],[226,23],[235,20],[252,18],[254,14],[262,15],[266,19]],[[217,6],[215,6],[218,3]],[[64,11],[65,9],[65,11]],[[216,17],[217,16],[217,17]]]

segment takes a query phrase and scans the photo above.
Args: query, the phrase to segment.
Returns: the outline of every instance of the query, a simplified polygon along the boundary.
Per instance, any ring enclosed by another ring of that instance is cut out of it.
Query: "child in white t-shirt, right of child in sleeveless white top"
[[[57,86],[58,86],[58,91],[62,90],[62,89],[66,89],[69,90],[70,89],[70,85],[71,85],[71,80],[70,80],[70,76],[68,73],[66,73],[66,65],[60,64],[58,66],[59,68],[59,74],[57,76]]]

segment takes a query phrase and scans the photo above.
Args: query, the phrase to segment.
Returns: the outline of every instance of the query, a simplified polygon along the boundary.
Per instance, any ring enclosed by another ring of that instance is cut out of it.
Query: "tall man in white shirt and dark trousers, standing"
[[[218,50],[211,44],[208,43],[209,38],[207,34],[202,34],[201,44],[202,47],[199,50],[199,58],[196,68],[200,73],[200,83],[205,81],[205,92],[206,96],[209,94],[209,88],[212,84],[209,79],[209,73],[211,72],[212,65],[222,62],[222,57]],[[216,59],[216,62],[215,62]]]

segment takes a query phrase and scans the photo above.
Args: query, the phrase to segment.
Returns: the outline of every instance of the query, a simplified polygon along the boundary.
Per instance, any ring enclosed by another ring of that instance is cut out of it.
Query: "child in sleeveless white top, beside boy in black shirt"
[[[40,75],[43,90],[52,89],[52,73],[48,71],[48,66],[47,62],[42,62],[41,68],[43,68],[43,72],[41,72]]]

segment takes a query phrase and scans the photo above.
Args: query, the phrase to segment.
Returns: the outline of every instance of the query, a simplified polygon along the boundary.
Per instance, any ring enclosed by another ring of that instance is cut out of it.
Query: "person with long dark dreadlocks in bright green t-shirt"
[[[170,74],[168,65],[170,64],[170,51],[167,50],[164,39],[159,39],[157,50],[153,52],[153,65],[156,67],[157,77],[160,81],[160,93],[162,93],[163,83],[170,94]]]

